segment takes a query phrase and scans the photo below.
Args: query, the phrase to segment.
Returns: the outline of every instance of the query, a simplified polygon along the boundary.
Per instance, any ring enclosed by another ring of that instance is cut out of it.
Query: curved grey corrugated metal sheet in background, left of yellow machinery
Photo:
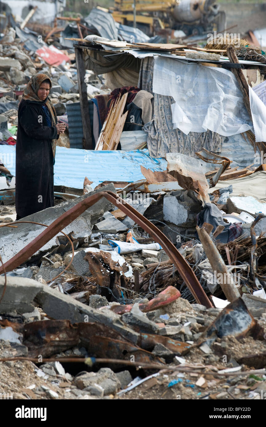
[[[115,20],[110,13],[95,8],[85,18],[85,21],[89,27],[97,29],[101,37],[108,38],[109,40],[118,39]]]

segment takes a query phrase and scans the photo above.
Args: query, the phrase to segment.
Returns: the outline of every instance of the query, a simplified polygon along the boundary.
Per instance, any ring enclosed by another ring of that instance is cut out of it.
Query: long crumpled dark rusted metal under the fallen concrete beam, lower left
[[[23,326],[23,325],[22,325]],[[114,329],[102,323],[75,323],[68,320],[42,320],[24,326],[24,342],[29,357],[49,357],[76,345],[85,347],[91,357],[128,359],[136,362],[161,362],[150,351],[133,344]]]

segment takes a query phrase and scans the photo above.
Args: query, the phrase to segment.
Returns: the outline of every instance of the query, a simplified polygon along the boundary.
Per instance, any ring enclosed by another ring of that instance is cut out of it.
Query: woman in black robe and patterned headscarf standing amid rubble
[[[46,74],[35,74],[18,107],[16,220],[53,206],[56,139],[65,125],[57,123],[48,97],[51,87]]]

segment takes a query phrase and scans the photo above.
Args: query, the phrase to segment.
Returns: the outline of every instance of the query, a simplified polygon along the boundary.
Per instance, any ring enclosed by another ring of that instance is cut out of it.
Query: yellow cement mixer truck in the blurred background
[[[112,14],[124,25],[132,26],[135,19],[136,26],[150,36],[167,28],[182,30],[186,35],[200,35],[225,28],[225,12],[219,10],[215,1],[135,0],[133,4],[133,0],[115,0]]]

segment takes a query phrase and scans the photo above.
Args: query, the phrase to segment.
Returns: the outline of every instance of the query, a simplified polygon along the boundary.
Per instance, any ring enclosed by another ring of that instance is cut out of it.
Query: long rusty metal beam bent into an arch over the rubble
[[[31,257],[38,249],[45,245],[52,237],[54,237],[59,231],[65,228],[70,224],[74,219],[81,215],[86,209],[94,205],[102,197],[105,197],[109,202],[113,203],[115,206],[121,209],[124,213],[130,216],[136,224],[143,228],[154,240],[162,246],[166,254],[171,258],[174,265],[177,268],[180,276],[183,278],[183,281],[186,283],[187,287],[191,291],[195,300],[199,304],[203,304],[206,307],[213,307],[206,293],[201,287],[195,273],[190,267],[189,263],[182,257],[182,255],[177,251],[176,247],[167,239],[167,237],[160,231],[152,222],[146,219],[141,213],[136,211],[133,206],[124,202],[119,196],[112,191],[102,191],[97,194],[83,199],[73,208],[69,209],[61,216],[59,216],[52,224],[50,224],[38,237],[25,246],[18,254],[12,257],[7,261],[3,266],[0,266],[0,274],[3,273],[3,269],[6,271],[12,271],[20,264],[24,263],[29,257]],[[15,224],[15,222],[14,222]]]

